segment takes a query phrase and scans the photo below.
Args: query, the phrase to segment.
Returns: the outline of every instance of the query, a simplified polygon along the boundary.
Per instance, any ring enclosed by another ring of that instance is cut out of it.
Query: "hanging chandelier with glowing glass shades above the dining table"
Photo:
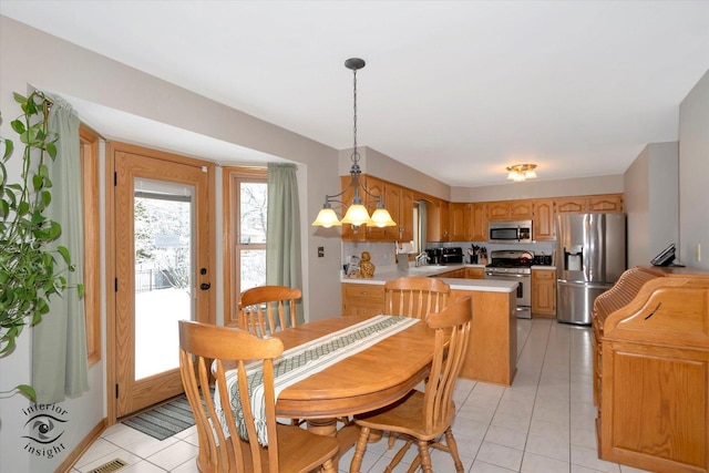
[[[391,219],[391,215],[389,215],[389,212],[384,208],[384,202],[382,199],[382,196],[372,194],[369,191],[367,191],[367,187],[364,187],[361,181],[362,171],[359,167],[360,156],[359,156],[359,153],[357,152],[357,71],[364,66],[364,60],[359,58],[350,58],[347,61],[345,61],[345,66],[347,69],[352,70],[353,76],[354,76],[354,81],[353,81],[354,83],[354,95],[353,95],[354,97],[354,101],[353,101],[354,102],[354,127],[353,127],[354,146],[352,148],[352,155],[351,155],[352,167],[350,167],[350,182],[347,184],[347,186],[342,189],[341,193],[325,196],[325,204],[322,204],[322,208],[320,209],[320,213],[318,213],[318,217],[312,223],[312,226],[329,228],[332,226],[340,226],[342,224],[350,224],[354,228],[359,227],[360,225],[374,226],[374,227],[393,227],[397,224],[394,223],[394,220]],[[342,204],[342,206],[347,207],[347,204],[342,200],[338,200],[338,197],[345,194],[345,192],[347,192],[347,189],[350,187],[354,187],[354,196],[352,197],[352,204],[349,205],[347,213],[345,214],[345,217],[342,217],[342,219],[340,220],[337,214],[335,213],[335,210],[332,209],[331,204],[339,203],[339,204]],[[359,195],[360,187],[362,188],[366,195],[372,197],[373,199],[372,203],[374,202],[377,203],[377,208],[374,209],[374,213],[371,215],[371,217],[369,216],[369,212],[367,210],[367,207],[362,204],[362,199]]]

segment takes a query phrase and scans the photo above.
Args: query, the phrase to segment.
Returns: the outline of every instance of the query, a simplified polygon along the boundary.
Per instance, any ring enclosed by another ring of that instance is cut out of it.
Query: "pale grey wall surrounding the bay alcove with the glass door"
[[[305,173],[305,176],[299,176],[299,183],[307,186],[301,192],[306,199],[301,205],[307,209],[301,218],[305,222],[304,266],[307,268],[304,288],[309,289],[304,299],[308,305],[308,316],[320,319],[340,313],[339,279],[332,277],[340,267],[340,235],[337,230],[315,229],[309,225],[317,215],[322,196],[339,187],[336,150],[1,16],[0,74],[0,104],[4,117],[0,126],[2,136],[13,136],[10,120],[18,115],[18,111],[12,92],[27,93],[32,84],[298,163],[299,173]],[[79,114],[81,116],[81,110]],[[125,140],[131,141],[130,136]],[[179,150],[172,151],[179,153]],[[9,169],[11,177],[19,175],[17,158],[11,160]],[[216,215],[220,215],[220,209]],[[217,245],[220,244],[220,238],[217,238]],[[317,258],[318,246],[326,248],[323,258]],[[218,278],[216,284],[220,285],[220,275]],[[102,327],[105,327],[105,319]],[[29,335],[29,331],[22,335],[11,357],[0,360],[0,390],[30,382]],[[70,415],[64,434],[66,452],[71,452],[105,417],[103,363],[105,356],[91,370],[90,392],[62,403]],[[33,457],[22,450],[22,435],[27,433],[22,410],[28,407],[28,401],[19,395],[0,399],[2,472],[52,471],[65,457],[65,453],[51,460]]]

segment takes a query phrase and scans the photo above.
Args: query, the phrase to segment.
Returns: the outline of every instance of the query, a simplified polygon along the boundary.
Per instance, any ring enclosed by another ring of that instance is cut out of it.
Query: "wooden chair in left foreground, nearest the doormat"
[[[321,466],[327,473],[336,473],[332,459],[339,448],[337,439],[276,422],[273,361],[282,351],[284,345],[276,338],[261,339],[238,328],[179,321],[179,373],[197,428],[199,472],[296,473]],[[244,368],[245,361],[256,359],[264,362],[268,446],[261,446],[256,440]],[[239,401],[249,440],[243,440],[237,431],[228,403],[223,360],[238,361]],[[225,428],[217,420],[217,405],[209,391],[210,373],[215,376],[215,391],[222,404],[227,405]]]

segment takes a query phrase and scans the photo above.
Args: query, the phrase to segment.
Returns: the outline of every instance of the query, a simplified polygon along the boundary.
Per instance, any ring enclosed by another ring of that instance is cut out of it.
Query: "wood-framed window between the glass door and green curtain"
[[[237,321],[238,295],[266,284],[266,217],[268,184],[265,168],[224,168],[225,325]]]

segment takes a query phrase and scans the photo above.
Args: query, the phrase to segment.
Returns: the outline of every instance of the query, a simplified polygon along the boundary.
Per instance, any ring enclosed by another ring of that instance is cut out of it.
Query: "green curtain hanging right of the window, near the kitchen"
[[[295,164],[268,164],[267,285],[302,287],[297,171]],[[298,304],[297,310],[301,323],[302,304]]]

